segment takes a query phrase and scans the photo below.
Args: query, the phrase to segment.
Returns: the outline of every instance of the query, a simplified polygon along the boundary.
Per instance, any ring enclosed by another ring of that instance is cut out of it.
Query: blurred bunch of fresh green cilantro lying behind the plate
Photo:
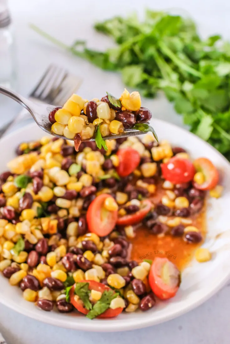
[[[143,22],[133,15],[97,23],[95,29],[117,44],[105,52],[83,41],[66,46],[32,28],[102,69],[119,71],[143,96],[163,90],[190,130],[230,160],[230,43],[221,36],[203,40],[191,19],[151,10]]]

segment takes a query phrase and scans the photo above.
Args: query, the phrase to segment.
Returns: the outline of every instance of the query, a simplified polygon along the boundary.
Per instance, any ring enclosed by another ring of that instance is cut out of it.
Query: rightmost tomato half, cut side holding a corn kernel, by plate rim
[[[213,163],[206,158],[198,158],[193,161],[195,169],[199,172],[202,172],[205,177],[203,184],[198,184],[193,182],[193,185],[199,190],[211,190],[218,184],[219,181],[219,172]]]

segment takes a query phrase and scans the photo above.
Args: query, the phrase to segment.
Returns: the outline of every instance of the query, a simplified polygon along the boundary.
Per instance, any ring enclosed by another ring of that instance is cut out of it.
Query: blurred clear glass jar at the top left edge
[[[0,85],[16,87],[15,45],[6,0],[0,0]]]

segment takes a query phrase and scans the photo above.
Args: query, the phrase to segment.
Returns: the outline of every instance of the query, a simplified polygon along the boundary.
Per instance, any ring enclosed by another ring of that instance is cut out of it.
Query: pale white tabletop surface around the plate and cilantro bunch
[[[66,44],[85,39],[90,47],[103,49],[112,43],[96,34],[92,23],[133,10],[142,16],[147,7],[173,8],[179,14],[190,13],[203,36],[221,33],[230,40],[230,3],[227,0],[9,0],[9,4],[17,41],[18,90],[23,95],[30,91],[50,63],[64,66],[83,79],[79,89],[83,98],[100,98],[107,90],[119,95],[123,88],[118,74],[103,72],[61,51],[31,31],[30,22]],[[174,114],[172,106],[163,99],[144,100],[143,103],[151,108],[154,117],[182,125],[180,116]],[[0,125],[19,109],[18,104],[0,96]],[[0,305],[0,332],[8,344],[229,344],[229,287],[230,283],[196,310],[177,319],[148,329],[113,334],[60,329]]]

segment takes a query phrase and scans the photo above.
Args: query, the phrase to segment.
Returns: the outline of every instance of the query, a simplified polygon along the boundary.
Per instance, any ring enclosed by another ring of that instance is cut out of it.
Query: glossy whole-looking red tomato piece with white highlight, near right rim
[[[195,168],[190,160],[177,157],[161,164],[161,171],[163,178],[173,184],[190,182],[195,174]]]

